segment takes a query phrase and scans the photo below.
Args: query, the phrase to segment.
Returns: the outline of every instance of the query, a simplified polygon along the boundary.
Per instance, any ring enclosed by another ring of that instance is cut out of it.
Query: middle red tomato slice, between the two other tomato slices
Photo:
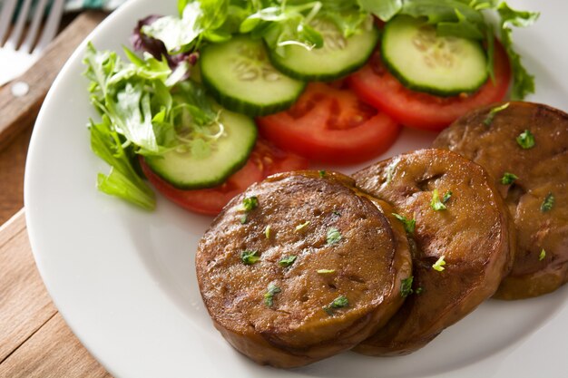
[[[400,126],[346,85],[311,82],[288,111],[257,118],[260,134],[284,150],[320,162],[350,164],[380,155]]]

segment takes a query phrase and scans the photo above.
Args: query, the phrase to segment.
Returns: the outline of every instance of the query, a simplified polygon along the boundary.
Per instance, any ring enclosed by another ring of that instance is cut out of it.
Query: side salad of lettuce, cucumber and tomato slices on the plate
[[[152,209],[146,177],[216,214],[308,160],[371,159],[401,125],[441,130],[510,82],[534,92],[512,27],[537,18],[499,0],[179,0],[134,25],[137,53],[87,45],[98,188]]]

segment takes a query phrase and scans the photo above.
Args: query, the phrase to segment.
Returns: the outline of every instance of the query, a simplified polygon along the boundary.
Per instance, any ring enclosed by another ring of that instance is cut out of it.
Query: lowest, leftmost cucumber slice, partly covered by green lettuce
[[[212,188],[240,170],[254,147],[257,128],[249,117],[231,111],[220,113],[224,135],[211,145],[211,153],[196,158],[189,150],[171,150],[146,156],[148,166],[178,189]]]

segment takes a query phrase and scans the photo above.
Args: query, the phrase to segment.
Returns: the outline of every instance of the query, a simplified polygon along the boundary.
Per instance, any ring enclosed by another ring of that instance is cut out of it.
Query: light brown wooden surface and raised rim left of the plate
[[[104,18],[73,19],[21,80],[30,92],[0,90],[0,378],[111,377],[65,325],[35,267],[25,228],[24,162],[34,119],[55,75]],[[10,218],[11,217],[11,218]]]

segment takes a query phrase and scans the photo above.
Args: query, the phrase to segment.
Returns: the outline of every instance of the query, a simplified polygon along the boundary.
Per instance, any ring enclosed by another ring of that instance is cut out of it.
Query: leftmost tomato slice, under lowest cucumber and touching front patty
[[[268,176],[289,170],[308,169],[308,160],[289,152],[279,150],[268,141],[259,139],[243,168],[231,175],[225,183],[216,188],[182,190],[171,186],[155,174],[141,159],[142,171],[152,186],[172,202],[188,210],[217,215],[236,195]]]

